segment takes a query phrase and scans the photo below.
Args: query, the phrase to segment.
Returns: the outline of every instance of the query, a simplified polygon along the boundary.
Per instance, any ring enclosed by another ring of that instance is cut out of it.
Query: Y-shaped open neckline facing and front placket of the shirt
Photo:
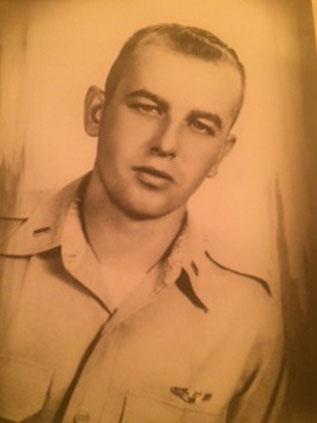
[[[103,410],[107,405],[116,411],[107,423],[115,423],[120,419],[124,395],[115,396],[111,392],[112,381],[116,377],[115,369],[119,367],[118,351],[122,335],[118,328],[122,323],[128,323],[136,313],[155,301],[158,294],[168,286],[173,285],[184,262],[181,245],[183,237],[178,240],[172,254],[163,263],[152,270],[139,286],[131,292],[120,307],[111,308],[110,297],[106,291],[104,275],[91,248],[82,233],[78,218],[78,205],[74,204],[69,214],[69,231],[64,233],[63,259],[68,271],[91,293],[104,304],[109,312],[109,319],[104,323],[95,342],[94,349],[88,357],[71,395],[64,413],[63,423],[104,423],[101,420]],[[77,233],[77,248],[74,248],[74,233]],[[81,248],[78,246],[81,245]],[[93,273],[92,273],[92,269]],[[123,387],[124,390],[124,387]],[[60,422],[58,422],[60,423]]]

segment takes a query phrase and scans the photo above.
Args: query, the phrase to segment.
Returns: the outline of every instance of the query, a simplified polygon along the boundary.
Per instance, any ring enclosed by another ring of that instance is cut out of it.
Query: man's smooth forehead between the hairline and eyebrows
[[[122,92],[151,91],[171,107],[228,115],[236,110],[242,90],[231,62],[207,61],[160,44],[143,45],[131,54],[120,85]]]

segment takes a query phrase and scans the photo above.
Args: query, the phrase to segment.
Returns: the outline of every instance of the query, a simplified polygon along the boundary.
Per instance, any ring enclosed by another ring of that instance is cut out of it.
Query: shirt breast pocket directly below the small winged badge
[[[158,398],[130,393],[125,401],[120,423],[223,423],[223,414],[213,414],[198,407],[179,407]]]

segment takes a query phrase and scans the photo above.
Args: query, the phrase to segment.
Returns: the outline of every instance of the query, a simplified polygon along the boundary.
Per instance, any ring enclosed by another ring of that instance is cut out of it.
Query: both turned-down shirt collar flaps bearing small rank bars
[[[0,245],[0,254],[31,256],[59,246],[62,246],[64,250],[63,255],[67,255],[67,248],[85,251],[86,242],[79,222],[78,203],[80,192],[88,177],[89,174],[70,183],[61,191],[42,197],[42,201],[32,215],[25,219],[25,222],[5,244]],[[71,233],[71,226],[76,228],[75,239],[70,239],[68,236]],[[163,263],[166,267],[165,284],[171,285],[179,280],[180,276],[185,275],[187,280],[180,283],[190,285],[190,292],[193,291],[193,295],[195,294],[203,301],[201,304],[205,309],[208,305],[204,292],[204,280],[210,278],[211,270],[206,251],[206,238],[194,219],[187,215]],[[81,257],[82,254],[79,253],[80,251],[76,254],[75,261]],[[195,303],[195,301],[192,302]]]

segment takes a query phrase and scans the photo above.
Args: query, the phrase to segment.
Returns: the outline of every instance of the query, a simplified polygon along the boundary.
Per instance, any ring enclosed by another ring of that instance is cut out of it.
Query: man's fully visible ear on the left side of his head
[[[97,137],[100,130],[105,93],[98,87],[88,89],[85,98],[85,130],[91,137]]]

